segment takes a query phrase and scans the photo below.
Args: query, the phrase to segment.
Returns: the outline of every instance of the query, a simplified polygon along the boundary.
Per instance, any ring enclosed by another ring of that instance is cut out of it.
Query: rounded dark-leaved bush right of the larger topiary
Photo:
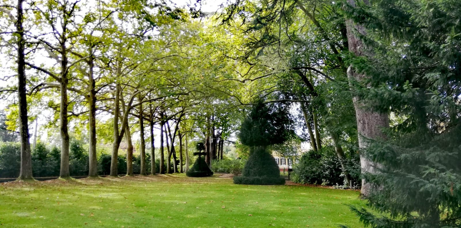
[[[293,182],[301,184],[342,185],[342,175],[339,158],[325,148],[321,152],[304,153],[295,165],[290,177]]]

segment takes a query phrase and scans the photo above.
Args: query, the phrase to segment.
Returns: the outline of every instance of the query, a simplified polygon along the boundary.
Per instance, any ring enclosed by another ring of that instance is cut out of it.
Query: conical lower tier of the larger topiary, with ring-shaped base
[[[285,184],[274,157],[264,147],[253,147],[241,176],[234,176],[235,184]]]

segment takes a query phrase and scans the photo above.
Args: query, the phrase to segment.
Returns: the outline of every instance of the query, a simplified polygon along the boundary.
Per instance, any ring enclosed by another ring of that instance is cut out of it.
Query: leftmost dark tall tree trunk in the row
[[[25,40],[23,27],[23,2],[18,0],[16,33],[18,35],[18,101],[19,101],[19,134],[21,137],[21,168],[19,180],[33,179],[32,158],[30,155],[29,123],[27,119],[26,75],[25,75]]]

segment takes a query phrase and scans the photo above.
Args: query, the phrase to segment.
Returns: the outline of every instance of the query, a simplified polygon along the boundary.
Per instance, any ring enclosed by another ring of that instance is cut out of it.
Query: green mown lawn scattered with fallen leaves
[[[0,227],[362,227],[359,193],[156,175],[0,185]]]

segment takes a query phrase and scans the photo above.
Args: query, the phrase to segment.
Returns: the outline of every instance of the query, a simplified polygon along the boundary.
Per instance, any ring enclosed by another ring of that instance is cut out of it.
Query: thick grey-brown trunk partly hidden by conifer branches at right
[[[355,7],[355,0],[348,0],[348,3]],[[368,4],[368,0],[365,0]],[[346,20],[347,36],[349,42],[349,51],[356,56],[371,55],[370,51],[366,49],[364,42],[356,33],[366,35],[365,27],[360,24],[355,24],[352,20]],[[363,82],[369,78],[364,74],[355,72],[352,66],[347,70],[350,82]],[[352,83],[350,83],[352,85]],[[368,147],[367,139],[384,139],[385,134],[381,128],[389,128],[389,115],[388,113],[378,112],[369,109],[365,106],[365,100],[360,97],[353,98],[355,114],[357,118],[357,131],[359,134],[359,147],[360,147],[360,164],[362,173],[376,173],[375,167],[377,164],[369,160],[364,153],[364,149]],[[368,196],[372,191],[373,186],[362,179],[361,193]]]

